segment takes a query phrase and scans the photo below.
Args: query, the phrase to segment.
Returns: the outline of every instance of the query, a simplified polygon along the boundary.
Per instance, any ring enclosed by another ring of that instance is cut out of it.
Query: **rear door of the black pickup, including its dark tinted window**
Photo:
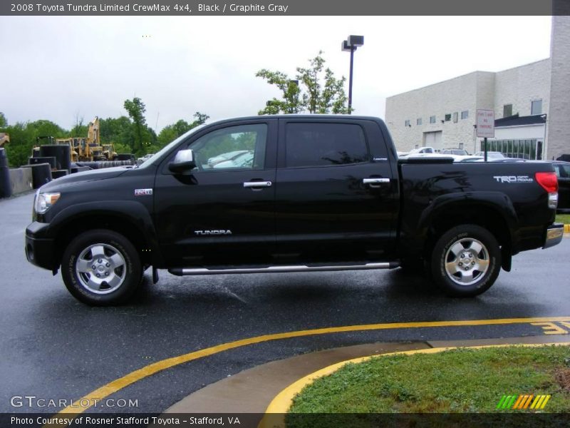
[[[389,260],[398,180],[378,123],[279,119],[278,151],[276,242],[282,257]]]

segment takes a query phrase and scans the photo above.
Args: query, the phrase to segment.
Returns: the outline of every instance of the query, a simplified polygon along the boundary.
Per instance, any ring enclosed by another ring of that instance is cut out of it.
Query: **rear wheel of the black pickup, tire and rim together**
[[[452,297],[480,295],[493,285],[500,270],[497,239],[477,225],[459,225],[447,230],[433,248],[432,279]]]

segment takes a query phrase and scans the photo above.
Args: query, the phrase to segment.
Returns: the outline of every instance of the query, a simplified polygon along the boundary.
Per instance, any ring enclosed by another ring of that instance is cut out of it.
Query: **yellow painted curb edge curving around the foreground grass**
[[[480,345],[480,346],[470,346],[470,347],[438,347],[438,348],[430,348],[427,350],[411,350],[411,351],[400,351],[400,352],[389,352],[388,354],[381,354],[381,355],[371,355],[369,357],[358,357],[353,358],[352,360],[346,360],[337,362],[336,364],[330,365],[328,367],[324,367],[321,370],[317,370],[311,374],[307,374],[305,377],[301,377],[301,379],[297,380],[296,382],[289,385],[283,389],[279,394],[275,396],[267,409],[265,410],[266,415],[264,415],[261,422],[259,422],[258,428],[285,428],[285,414],[289,412],[289,408],[291,404],[293,404],[293,399],[296,394],[301,392],[301,389],[306,387],[307,385],[313,383],[319,377],[328,376],[336,372],[337,370],[341,369],[341,367],[350,364],[350,363],[359,363],[364,362],[367,360],[371,360],[373,358],[382,358],[387,357],[389,355],[413,355],[413,354],[436,354],[437,352],[443,352],[448,350],[457,350],[459,348],[469,348],[469,349],[482,349],[488,347],[509,347],[509,346],[516,346],[516,347],[544,347],[550,345],[564,345],[569,346],[570,342],[554,342],[554,343],[535,343],[535,344],[509,344],[509,345]],[[268,415],[269,414],[269,415]],[[275,417],[275,415],[271,414],[279,414],[279,417]]]

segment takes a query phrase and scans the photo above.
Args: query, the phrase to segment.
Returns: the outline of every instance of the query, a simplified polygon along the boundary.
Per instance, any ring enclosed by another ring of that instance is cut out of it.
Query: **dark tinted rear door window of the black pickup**
[[[287,123],[287,168],[369,161],[362,128],[351,123]]]

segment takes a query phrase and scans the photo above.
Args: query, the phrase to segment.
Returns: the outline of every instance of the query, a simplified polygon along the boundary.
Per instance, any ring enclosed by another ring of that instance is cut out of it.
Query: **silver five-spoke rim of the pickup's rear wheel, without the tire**
[[[489,251],[478,240],[463,238],[445,254],[445,273],[458,285],[472,285],[489,269]]]

